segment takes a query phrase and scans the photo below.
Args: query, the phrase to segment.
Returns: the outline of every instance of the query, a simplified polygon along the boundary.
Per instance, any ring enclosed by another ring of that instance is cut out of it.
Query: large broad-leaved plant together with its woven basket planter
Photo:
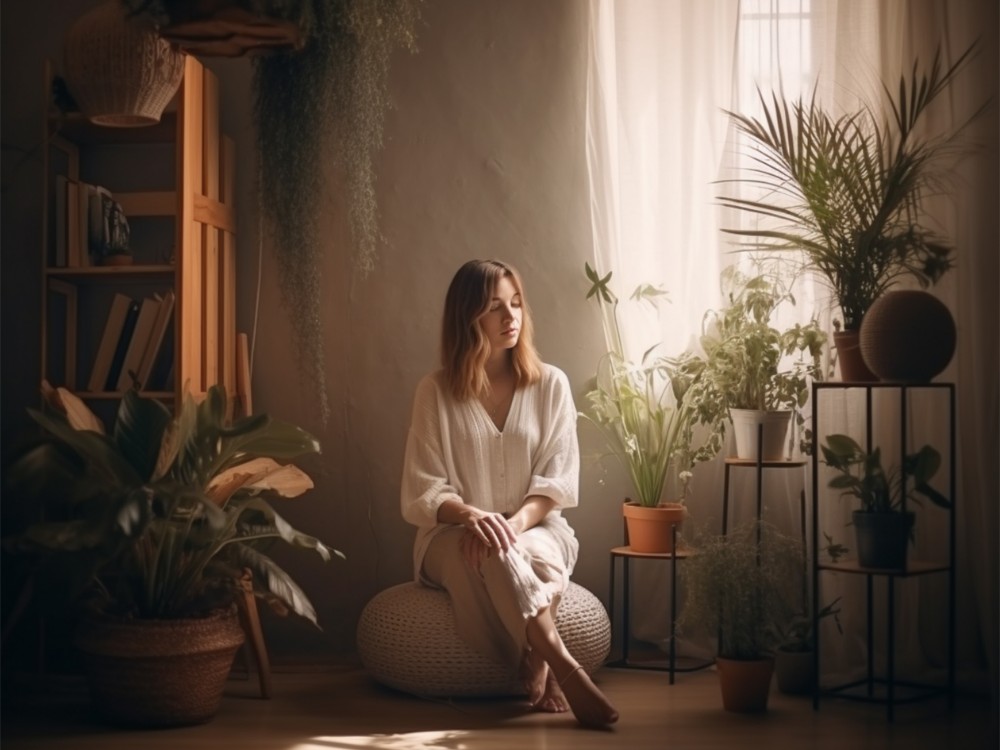
[[[47,438],[12,463],[9,497],[46,500],[44,517],[8,537],[31,555],[35,590],[79,614],[76,644],[96,707],[141,726],[203,722],[218,710],[243,642],[248,588],[281,613],[316,623],[305,592],[262,546],[330,550],[268,503],[312,487],[293,459],[316,453],[304,430],[266,414],[226,420],[222,388],[176,419],[127,391],[114,425],[72,393],[29,410]]]

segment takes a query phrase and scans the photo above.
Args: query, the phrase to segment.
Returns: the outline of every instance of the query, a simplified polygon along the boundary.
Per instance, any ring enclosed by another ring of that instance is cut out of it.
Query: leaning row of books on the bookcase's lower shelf
[[[174,319],[174,291],[135,300],[118,292],[111,302],[87,390],[123,393],[171,390],[173,350],[168,331]]]

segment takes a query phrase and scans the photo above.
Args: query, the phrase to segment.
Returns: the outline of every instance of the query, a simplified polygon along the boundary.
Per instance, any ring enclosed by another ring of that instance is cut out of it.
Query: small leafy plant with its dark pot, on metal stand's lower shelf
[[[907,454],[901,467],[887,471],[880,448],[866,451],[849,435],[827,435],[821,448],[823,462],[837,471],[829,486],[841,490],[841,497],[861,501],[851,515],[858,562],[868,568],[904,568],[915,518],[904,507],[904,499],[919,505],[923,498],[941,508],[951,507],[951,501],[930,484],[941,466],[941,454],[924,445]]]

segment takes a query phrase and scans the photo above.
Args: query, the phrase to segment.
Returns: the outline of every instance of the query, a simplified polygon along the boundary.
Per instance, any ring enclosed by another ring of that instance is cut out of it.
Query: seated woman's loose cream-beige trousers
[[[565,523],[559,516],[546,518],[521,534],[507,553],[490,555],[479,570],[462,557],[464,528],[455,526],[434,537],[422,578],[450,595],[462,640],[498,663],[513,668],[521,663],[528,619],[546,607],[555,617],[569,586],[577,542],[567,539]]]

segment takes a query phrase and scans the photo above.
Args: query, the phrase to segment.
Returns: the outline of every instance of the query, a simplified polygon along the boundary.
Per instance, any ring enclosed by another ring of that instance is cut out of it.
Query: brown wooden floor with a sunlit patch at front
[[[430,701],[381,688],[360,669],[277,673],[274,697],[254,679],[233,678],[219,714],[197,727],[124,731],[102,724],[79,681],[8,691],[3,750],[590,750],[591,748],[820,748],[862,750],[996,747],[989,701],[961,697],[949,712],[933,699],[897,709],[773,690],[766,714],[722,710],[712,670],[677,676],[604,668],[595,680],[621,712],[607,731],[580,728],[570,714],[526,713],[517,700]],[[9,686],[8,686],[9,687]]]

